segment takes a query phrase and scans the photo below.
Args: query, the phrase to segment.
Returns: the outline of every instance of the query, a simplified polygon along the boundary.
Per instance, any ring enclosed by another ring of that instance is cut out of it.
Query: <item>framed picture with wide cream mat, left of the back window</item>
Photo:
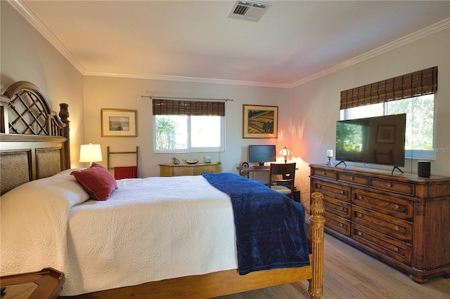
[[[136,137],[136,110],[101,109],[102,137]]]

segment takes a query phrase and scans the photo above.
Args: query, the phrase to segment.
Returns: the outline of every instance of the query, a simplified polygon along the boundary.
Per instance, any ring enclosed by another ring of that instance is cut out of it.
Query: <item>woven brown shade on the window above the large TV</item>
[[[428,95],[437,91],[437,67],[341,91],[340,109]]]

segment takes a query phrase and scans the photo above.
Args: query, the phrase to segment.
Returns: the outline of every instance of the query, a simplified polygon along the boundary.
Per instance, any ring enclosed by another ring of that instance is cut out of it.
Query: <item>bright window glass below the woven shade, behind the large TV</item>
[[[341,110],[341,119],[361,119],[406,113],[405,156],[435,159],[434,147],[435,95],[380,102]]]

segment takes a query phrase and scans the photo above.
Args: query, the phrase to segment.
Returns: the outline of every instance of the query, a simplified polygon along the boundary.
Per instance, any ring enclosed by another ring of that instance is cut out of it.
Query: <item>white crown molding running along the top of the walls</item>
[[[90,72],[84,68],[84,66],[75,58],[74,55],[64,46],[64,44],[58,39],[58,37],[51,32],[49,27],[47,27],[44,22],[32,11],[32,9],[27,6],[23,1],[20,0],[8,0],[8,3],[15,8],[16,11],[23,15],[25,20],[29,22],[32,27],[37,29],[37,31],[44,36],[44,38],[49,41],[49,43],[56,48],[82,75],[84,76],[99,76],[99,77],[121,77],[121,78],[133,78],[133,79],[150,79],[150,80],[166,80],[166,81],[184,81],[184,82],[195,82],[195,83],[209,83],[209,84],[230,84],[230,85],[243,85],[243,86],[259,86],[259,87],[273,87],[273,88],[294,88],[307,82],[314,81],[321,77],[325,77],[333,72],[338,72],[341,69],[345,69],[352,65],[356,65],[359,62],[374,58],[378,55],[386,53],[388,51],[404,46],[418,39],[422,39],[425,36],[429,36],[436,32],[442,31],[444,29],[450,28],[450,18],[437,22],[434,25],[420,29],[418,32],[414,32],[407,36],[401,37],[396,41],[392,41],[384,46],[375,48],[372,51],[368,51],[362,55],[356,56],[355,58],[346,60],[338,65],[324,69],[321,72],[312,74],[309,77],[300,79],[293,82],[292,84],[279,84],[270,82],[257,82],[257,81],[241,81],[241,80],[229,80],[229,79],[208,79],[208,78],[195,78],[195,77],[178,77],[178,76],[167,76],[158,74],[120,74],[120,73],[108,73],[108,72]]]

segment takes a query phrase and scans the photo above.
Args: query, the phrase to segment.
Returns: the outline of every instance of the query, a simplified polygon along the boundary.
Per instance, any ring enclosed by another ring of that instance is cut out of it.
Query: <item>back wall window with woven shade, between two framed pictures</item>
[[[224,151],[224,102],[153,100],[155,152]]]

